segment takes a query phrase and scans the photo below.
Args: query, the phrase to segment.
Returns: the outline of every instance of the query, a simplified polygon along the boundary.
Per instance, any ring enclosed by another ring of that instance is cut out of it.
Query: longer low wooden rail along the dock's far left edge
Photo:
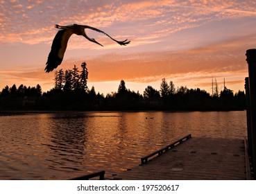
[[[171,148],[174,148],[176,145],[179,145],[180,143],[182,143],[183,141],[185,141],[189,138],[191,138],[191,134],[188,134],[187,136],[183,137],[182,139],[179,139],[179,140],[167,145],[166,147],[164,147],[160,150],[152,152],[150,155],[147,155],[146,157],[142,157],[141,158],[142,164],[146,164],[148,162],[149,158],[151,158],[155,155],[162,155],[162,153],[167,152],[168,150],[171,150]]]

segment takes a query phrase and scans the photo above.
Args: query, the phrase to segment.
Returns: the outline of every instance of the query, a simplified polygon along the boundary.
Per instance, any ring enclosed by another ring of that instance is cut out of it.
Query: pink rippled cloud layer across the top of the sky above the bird
[[[93,25],[113,35],[135,34],[137,39],[160,38],[211,21],[255,16],[255,4],[253,1],[3,1],[0,12],[0,42],[51,44],[56,23]]]

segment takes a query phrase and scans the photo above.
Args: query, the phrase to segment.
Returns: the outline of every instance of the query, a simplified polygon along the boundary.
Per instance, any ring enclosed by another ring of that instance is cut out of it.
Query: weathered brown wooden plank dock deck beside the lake
[[[197,138],[180,143],[146,164],[106,179],[241,180],[246,176],[245,141]],[[138,161],[139,162],[139,161]]]

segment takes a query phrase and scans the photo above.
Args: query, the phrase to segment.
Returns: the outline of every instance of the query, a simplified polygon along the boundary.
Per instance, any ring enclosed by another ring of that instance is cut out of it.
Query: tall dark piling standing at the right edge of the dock
[[[256,49],[246,51],[248,78],[246,78],[246,116],[248,132],[248,155],[251,177],[256,179]]]

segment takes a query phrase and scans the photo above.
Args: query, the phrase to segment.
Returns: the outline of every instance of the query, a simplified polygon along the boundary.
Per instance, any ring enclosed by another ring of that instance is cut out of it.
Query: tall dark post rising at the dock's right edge
[[[250,127],[252,140],[253,177],[256,176],[256,49],[246,51],[248,63],[248,85],[250,94]]]

